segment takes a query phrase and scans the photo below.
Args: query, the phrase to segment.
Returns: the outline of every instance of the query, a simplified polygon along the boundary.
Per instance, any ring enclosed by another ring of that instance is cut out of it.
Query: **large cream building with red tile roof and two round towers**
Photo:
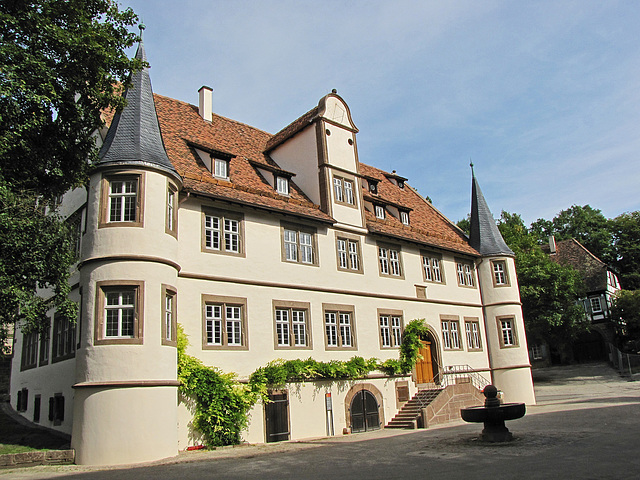
[[[154,95],[148,69],[126,98],[87,188],[59,208],[77,232],[80,318],[50,312],[49,336],[15,343],[12,405],[70,434],[78,463],[201,441],[178,396],[178,323],[187,353],[241,379],[276,359],[397,359],[407,323],[428,325],[407,375],[270,391],[248,442],[415,428],[424,390],[477,404],[493,382],[535,402],[513,252],[475,176],[467,238],[406,178],[360,162],[335,91],[275,135],[214,113],[208,87],[198,106]],[[438,404],[429,424],[451,418]]]

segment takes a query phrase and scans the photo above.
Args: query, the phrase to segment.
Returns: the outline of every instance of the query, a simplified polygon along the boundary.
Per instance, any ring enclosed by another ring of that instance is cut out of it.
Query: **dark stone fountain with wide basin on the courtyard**
[[[506,420],[522,418],[526,412],[524,403],[500,403],[498,389],[493,385],[484,387],[484,407],[461,408],[465,422],[484,423],[480,439],[484,442],[508,442],[513,435],[505,426]]]

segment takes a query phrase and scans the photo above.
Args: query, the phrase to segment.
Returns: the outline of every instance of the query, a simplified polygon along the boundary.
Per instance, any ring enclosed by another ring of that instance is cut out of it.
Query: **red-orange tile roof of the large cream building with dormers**
[[[167,154],[183,177],[183,188],[186,191],[334,223],[328,214],[321,211],[300,190],[293,179],[290,181],[290,195],[279,195],[256,168],[263,164],[265,167],[272,167],[267,170],[277,172],[280,167],[269,157],[269,150],[309,125],[317,116],[318,107],[277,134],[271,135],[216,114],[212,116],[211,122],[205,121],[199,115],[198,108],[186,102],[158,94],[154,95],[154,100]],[[107,120],[110,120],[109,116]],[[229,181],[214,178],[194,147],[218,152],[221,157],[231,157]],[[406,183],[404,188],[400,188],[391,180],[403,177],[363,163],[360,163],[360,174],[365,178],[378,180],[378,194],[372,195],[365,190],[367,200],[380,199],[384,204],[399,206],[410,212],[410,225],[403,225],[392,215],[380,220],[367,210],[367,228],[372,234],[410,241],[425,247],[478,255],[469,246],[464,234],[413,188]]]

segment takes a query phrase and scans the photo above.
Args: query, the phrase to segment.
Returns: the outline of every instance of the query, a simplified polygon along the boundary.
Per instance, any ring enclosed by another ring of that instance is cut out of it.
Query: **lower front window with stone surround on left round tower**
[[[99,281],[95,344],[142,344],[144,282]]]

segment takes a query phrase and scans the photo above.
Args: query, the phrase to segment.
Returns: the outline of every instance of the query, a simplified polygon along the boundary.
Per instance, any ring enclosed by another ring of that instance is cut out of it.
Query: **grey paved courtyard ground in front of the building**
[[[0,471],[40,479],[640,479],[640,382],[604,364],[534,372],[537,405],[507,423],[512,442],[478,440],[478,424],[188,452],[126,467]]]

